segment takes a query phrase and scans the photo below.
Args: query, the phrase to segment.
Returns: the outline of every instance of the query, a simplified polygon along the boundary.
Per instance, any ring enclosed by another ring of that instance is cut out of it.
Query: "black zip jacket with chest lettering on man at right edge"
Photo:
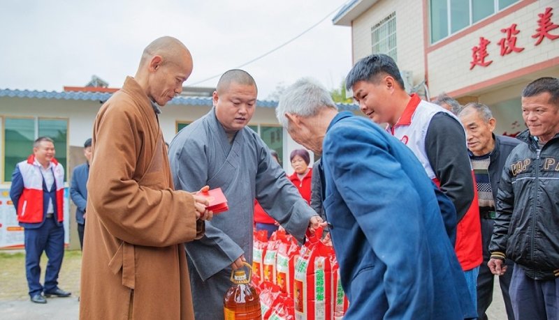
[[[551,280],[559,276],[559,134],[541,149],[528,130],[517,138],[526,143],[505,163],[489,251],[532,279]]]

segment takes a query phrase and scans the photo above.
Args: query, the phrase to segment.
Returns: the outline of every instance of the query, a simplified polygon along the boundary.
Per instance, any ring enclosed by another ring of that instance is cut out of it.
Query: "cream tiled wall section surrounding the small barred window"
[[[371,28],[393,12],[396,13],[398,66],[401,70],[412,71],[414,84],[419,84],[425,75],[421,1],[378,1],[357,17],[351,26],[353,63],[373,53]]]

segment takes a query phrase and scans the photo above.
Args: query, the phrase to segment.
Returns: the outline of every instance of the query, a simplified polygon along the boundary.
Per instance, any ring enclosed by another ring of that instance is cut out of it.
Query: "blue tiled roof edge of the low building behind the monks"
[[[12,90],[0,89],[0,98],[36,98],[36,99],[57,99],[57,100],[85,100],[85,101],[106,101],[112,96],[112,93],[105,92],[80,92],[80,91],[31,91],[31,90]],[[170,100],[170,105],[200,105],[204,107],[212,107],[211,97],[176,97]],[[258,107],[275,108],[277,101],[258,100]],[[356,110],[357,105],[351,103],[338,103],[340,110]]]

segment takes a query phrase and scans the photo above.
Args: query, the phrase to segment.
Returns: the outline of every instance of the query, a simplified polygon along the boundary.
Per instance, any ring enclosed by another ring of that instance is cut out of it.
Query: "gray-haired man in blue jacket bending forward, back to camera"
[[[412,151],[368,119],[338,113],[311,79],[286,89],[276,116],[296,142],[322,151],[344,319],[476,318],[442,221],[439,203],[450,200],[437,202]]]

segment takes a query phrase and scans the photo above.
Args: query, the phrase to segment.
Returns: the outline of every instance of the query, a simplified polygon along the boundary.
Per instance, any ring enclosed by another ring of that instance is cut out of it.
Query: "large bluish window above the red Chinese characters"
[[[431,43],[497,13],[519,0],[430,0]]]

